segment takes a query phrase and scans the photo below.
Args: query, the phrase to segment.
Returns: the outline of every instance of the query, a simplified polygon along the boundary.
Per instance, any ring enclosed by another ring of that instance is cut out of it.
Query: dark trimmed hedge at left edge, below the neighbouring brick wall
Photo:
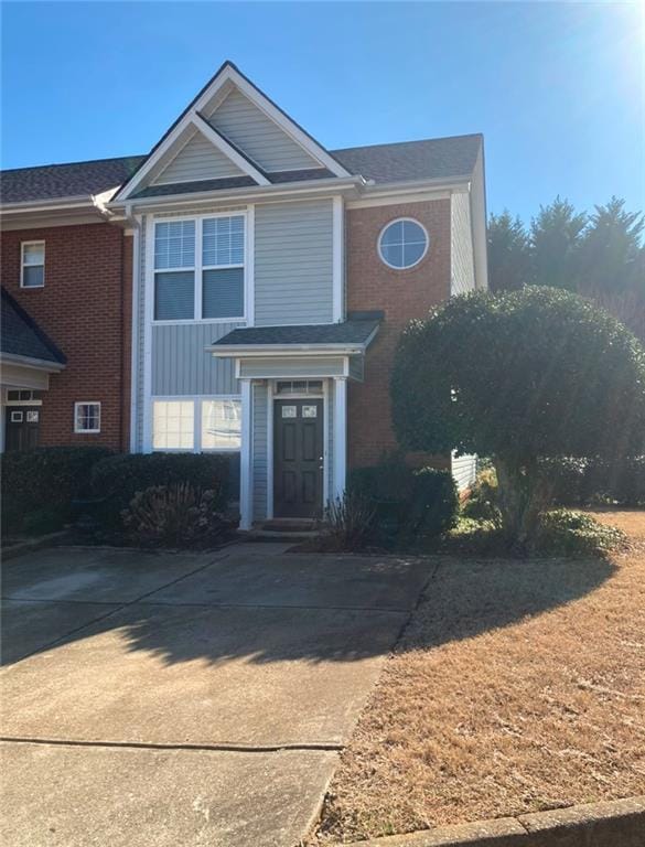
[[[43,447],[2,457],[3,532],[52,532],[72,517],[73,501],[90,491],[106,447]]]

